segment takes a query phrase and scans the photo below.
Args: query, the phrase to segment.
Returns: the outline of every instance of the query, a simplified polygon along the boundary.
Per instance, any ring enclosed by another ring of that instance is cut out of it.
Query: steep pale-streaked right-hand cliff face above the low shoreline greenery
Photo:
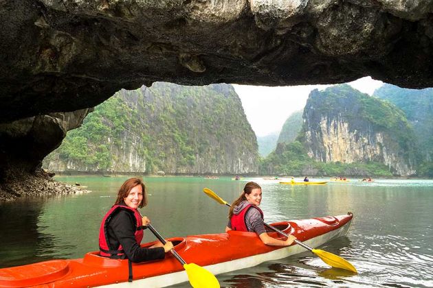
[[[416,173],[414,132],[395,106],[340,85],[313,91],[303,117],[303,141],[315,160],[377,161],[396,175]]]

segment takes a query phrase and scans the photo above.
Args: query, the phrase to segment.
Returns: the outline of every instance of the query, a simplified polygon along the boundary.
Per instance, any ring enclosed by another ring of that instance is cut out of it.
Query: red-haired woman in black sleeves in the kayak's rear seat
[[[129,259],[138,263],[164,259],[166,252],[173,249],[173,243],[161,242],[149,248],[140,247],[143,239],[143,225],[151,223],[148,217],[137,210],[147,205],[146,187],[140,178],[126,180],[118,191],[118,197],[110,211],[102,219],[99,232],[100,255],[111,259]],[[132,271],[130,267],[130,280]]]

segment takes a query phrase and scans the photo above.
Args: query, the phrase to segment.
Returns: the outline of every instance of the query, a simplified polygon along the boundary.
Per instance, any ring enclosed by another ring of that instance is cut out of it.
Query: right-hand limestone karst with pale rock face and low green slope
[[[412,173],[417,162],[404,112],[347,84],[312,91],[303,117],[296,141],[278,143],[261,160],[260,173],[392,176]]]

